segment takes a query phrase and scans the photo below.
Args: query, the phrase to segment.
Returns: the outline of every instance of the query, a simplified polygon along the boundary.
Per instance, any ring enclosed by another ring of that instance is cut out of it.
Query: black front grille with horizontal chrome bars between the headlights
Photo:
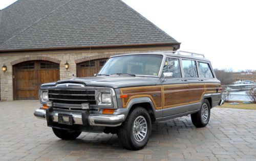
[[[96,105],[95,90],[49,90],[49,100],[53,101],[54,108],[81,109],[82,103]]]

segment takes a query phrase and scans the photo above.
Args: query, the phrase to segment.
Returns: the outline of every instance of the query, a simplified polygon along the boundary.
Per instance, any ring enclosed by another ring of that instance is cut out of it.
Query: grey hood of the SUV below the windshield
[[[159,82],[158,77],[142,77],[142,76],[94,76],[83,78],[71,78],[63,81],[42,84],[41,87],[56,86],[63,83],[80,83],[86,86],[96,87],[135,87],[135,86],[154,86]]]

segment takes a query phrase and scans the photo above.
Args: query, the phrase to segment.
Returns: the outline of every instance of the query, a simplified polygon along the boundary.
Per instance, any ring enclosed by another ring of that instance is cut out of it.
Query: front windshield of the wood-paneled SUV
[[[110,58],[99,74],[135,74],[158,76],[162,55],[127,55]]]

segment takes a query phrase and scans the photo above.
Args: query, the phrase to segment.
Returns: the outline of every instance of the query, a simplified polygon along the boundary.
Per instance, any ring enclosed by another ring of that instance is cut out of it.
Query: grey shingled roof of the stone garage
[[[119,0],[19,0],[2,10],[0,51],[179,44]]]

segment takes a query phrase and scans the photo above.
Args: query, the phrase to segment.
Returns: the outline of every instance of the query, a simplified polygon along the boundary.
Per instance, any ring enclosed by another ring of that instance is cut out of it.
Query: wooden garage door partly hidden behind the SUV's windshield
[[[77,64],[77,77],[93,76],[101,69],[107,59],[92,60]]]

